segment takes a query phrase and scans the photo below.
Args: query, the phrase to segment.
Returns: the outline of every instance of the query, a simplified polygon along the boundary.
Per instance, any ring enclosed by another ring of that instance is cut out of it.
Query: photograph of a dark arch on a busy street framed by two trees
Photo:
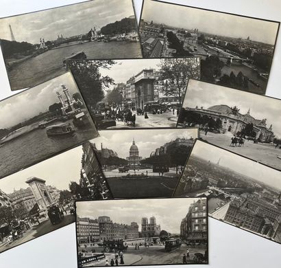
[[[69,60],[95,126],[175,127],[188,79],[200,78],[199,58]]]

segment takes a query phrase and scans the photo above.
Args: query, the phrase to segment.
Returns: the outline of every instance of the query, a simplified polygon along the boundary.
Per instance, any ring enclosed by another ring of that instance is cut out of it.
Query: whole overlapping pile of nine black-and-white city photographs
[[[76,221],[78,267],[208,264],[208,215],[281,243],[279,25],[154,0],[139,27],[130,0],[0,19],[29,88],[0,102],[0,252]]]

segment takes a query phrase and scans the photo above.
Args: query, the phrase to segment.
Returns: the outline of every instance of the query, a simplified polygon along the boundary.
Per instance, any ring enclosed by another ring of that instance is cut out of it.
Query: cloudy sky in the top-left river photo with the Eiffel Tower
[[[11,40],[9,24],[16,41],[39,43],[86,34],[93,27],[103,27],[134,15],[132,0],[93,0],[61,8],[32,12],[0,19],[0,39]]]

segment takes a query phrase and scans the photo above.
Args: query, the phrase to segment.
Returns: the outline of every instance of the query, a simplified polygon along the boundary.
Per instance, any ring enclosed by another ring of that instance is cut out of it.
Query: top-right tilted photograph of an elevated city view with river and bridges
[[[265,94],[279,26],[277,21],[144,0],[139,32],[145,58],[199,56],[201,80]]]

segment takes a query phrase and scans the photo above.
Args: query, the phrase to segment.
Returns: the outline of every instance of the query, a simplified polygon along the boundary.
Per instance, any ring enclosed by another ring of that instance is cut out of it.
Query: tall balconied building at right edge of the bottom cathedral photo
[[[206,199],[199,199],[188,208],[182,219],[180,235],[191,243],[207,243],[207,216]]]

